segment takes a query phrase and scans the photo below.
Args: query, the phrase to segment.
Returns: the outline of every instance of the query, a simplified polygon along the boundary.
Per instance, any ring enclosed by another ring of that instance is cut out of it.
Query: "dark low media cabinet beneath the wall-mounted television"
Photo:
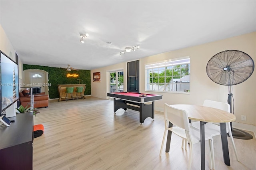
[[[0,169],[33,169],[33,113],[16,114],[9,127],[0,126]]]

